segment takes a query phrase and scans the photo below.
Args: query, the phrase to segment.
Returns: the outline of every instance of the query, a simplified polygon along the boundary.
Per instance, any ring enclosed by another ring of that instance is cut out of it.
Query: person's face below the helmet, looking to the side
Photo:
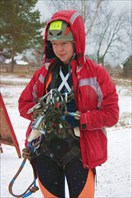
[[[55,55],[64,63],[67,64],[74,53],[72,41],[52,41],[52,47]]]

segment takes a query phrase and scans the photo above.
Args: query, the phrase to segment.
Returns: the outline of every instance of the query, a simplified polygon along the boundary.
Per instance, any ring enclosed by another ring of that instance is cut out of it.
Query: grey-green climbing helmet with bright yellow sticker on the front
[[[53,21],[49,25],[48,38],[49,41],[63,40],[73,41],[73,35],[70,29],[70,25],[65,21]]]

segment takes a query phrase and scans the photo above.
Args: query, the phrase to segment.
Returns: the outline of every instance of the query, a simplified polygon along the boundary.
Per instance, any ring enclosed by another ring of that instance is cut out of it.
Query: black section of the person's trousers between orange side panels
[[[59,198],[65,197],[65,177],[71,198],[79,196],[88,177],[88,169],[83,168],[81,159],[77,156],[66,166],[61,164],[61,159],[75,145],[80,147],[79,139],[73,138],[69,143],[67,139],[54,138],[49,145],[50,154],[42,153],[33,160],[41,184]]]

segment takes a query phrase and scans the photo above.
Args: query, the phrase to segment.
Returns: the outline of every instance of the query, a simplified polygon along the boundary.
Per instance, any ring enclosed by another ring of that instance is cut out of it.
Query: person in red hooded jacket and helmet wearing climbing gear
[[[42,108],[29,109],[44,96],[48,104],[48,93],[50,97],[61,93],[65,103],[61,108],[61,103],[52,100],[45,108],[45,130],[41,127],[41,135],[37,135],[43,139],[32,159],[47,198],[65,197],[65,177],[70,197],[94,197],[95,168],[107,160],[106,128],[118,122],[116,87],[105,68],[84,53],[85,29],[80,14],[76,10],[56,12],[45,29],[44,65],[19,98],[20,115],[31,120],[26,145],[35,139],[33,123],[42,112]],[[61,110],[65,114],[62,120]]]

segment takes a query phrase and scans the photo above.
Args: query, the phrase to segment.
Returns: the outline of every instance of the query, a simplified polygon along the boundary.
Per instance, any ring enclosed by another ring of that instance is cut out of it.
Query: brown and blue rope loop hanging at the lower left
[[[22,169],[23,169],[23,167],[24,167],[24,165],[25,165],[25,163],[26,163],[26,160],[27,160],[27,159],[24,159],[24,160],[22,161],[22,163],[21,163],[21,165],[20,165],[20,167],[19,167],[17,173],[15,174],[15,176],[13,177],[13,179],[11,180],[11,182],[9,183],[9,187],[8,187],[9,192],[10,192],[10,194],[11,194],[12,196],[14,196],[14,197],[25,198],[25,197],[28,197],[29,195],[31,195],[32,193],[35,193],[35,192],[39,189],[39,188],[36,186],[36,179],[37,179],[37,178],[35,177],[35,173],[34,173],[34,180],[33,180],[33,182],[30,184],[30,186],[25,190],[24,193],[22,193],[22,194],[20,194],[20,195],[16,195],[16,194],[13,193],[13,190],[12,190],[12,189],[13,189],[13,184],[14,184],[15,180],[17,179],[18,175],[20,174],[20,172],[22,171]]]

